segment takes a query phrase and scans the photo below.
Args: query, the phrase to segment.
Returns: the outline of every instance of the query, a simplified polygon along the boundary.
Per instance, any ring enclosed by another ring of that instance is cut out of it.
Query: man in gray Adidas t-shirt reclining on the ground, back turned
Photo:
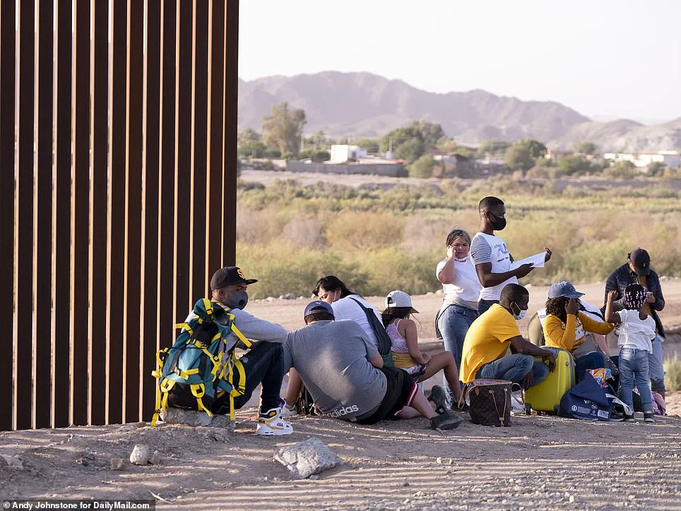
[[[288,405],[295,403],[304,384],[315,408],[330,418],[374,424],[423,415],[434,429],[461,423],[449,411],[435,413],[408,372],[384,368],[362,327],[333,321],[331,305],[312,302],[304,317],[307,327],[290,332],[283,346],[284,371],[295,368],[286,392]]]

